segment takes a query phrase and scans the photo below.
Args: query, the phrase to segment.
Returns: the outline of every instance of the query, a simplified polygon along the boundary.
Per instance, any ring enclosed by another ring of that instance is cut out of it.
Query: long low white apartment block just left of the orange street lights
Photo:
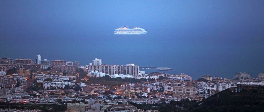
[[[64,87],[65,85],[73,86],[75,85],[75,80],[68,80],[68,81],[44,81],[43,87],[44,89],[47,89],[47,87],[53,86],[53,87]]]

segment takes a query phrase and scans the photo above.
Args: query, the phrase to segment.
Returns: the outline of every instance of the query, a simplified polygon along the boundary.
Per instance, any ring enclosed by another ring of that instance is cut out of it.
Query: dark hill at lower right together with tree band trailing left
[[[160,112],[217,112],[217,95],[219,95],[219,112],[263,112],[263,86],[246,86],[239,91],[235,90],[235,87],[229,88],[200,102],[183,99],[171,103],[161,101],[151,105],[131,104],[139,109],[156,109]]]

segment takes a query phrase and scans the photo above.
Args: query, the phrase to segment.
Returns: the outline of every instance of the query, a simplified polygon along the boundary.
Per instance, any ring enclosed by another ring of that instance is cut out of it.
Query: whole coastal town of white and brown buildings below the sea
[[[0,112],[160,112],[158,104],[175,102],[179,109],[190,109],[185,102],[205,101],[238,85],[263,84],[264,73],[257,78],[239,72],[232,79],[204,75],[194,80],[185,73],[146,73],[134,63],[103,64],[99,58],[85,66],[80,61],[41,60],[41,55],[35,62],[2,58]]]

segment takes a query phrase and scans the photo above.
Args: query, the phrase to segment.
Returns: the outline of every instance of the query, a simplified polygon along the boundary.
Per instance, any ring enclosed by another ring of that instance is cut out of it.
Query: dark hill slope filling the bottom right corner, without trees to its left
[[[195,107],[194,112],[217,112],[217,95],[219,112],[264,111],[264,87],[238,84],[238,87],[231,87],[208,97],[201,105]]]

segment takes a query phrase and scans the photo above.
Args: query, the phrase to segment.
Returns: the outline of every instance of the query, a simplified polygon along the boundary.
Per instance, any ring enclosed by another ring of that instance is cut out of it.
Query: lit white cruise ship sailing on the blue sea
[[[133,29],[127,28],[129,26],[123,26],[121,28],[117,28],[116,31],[114,31],[114,34],[147,34],[147,31],[145,31],[143,28],[139,27],[129,27]]]

